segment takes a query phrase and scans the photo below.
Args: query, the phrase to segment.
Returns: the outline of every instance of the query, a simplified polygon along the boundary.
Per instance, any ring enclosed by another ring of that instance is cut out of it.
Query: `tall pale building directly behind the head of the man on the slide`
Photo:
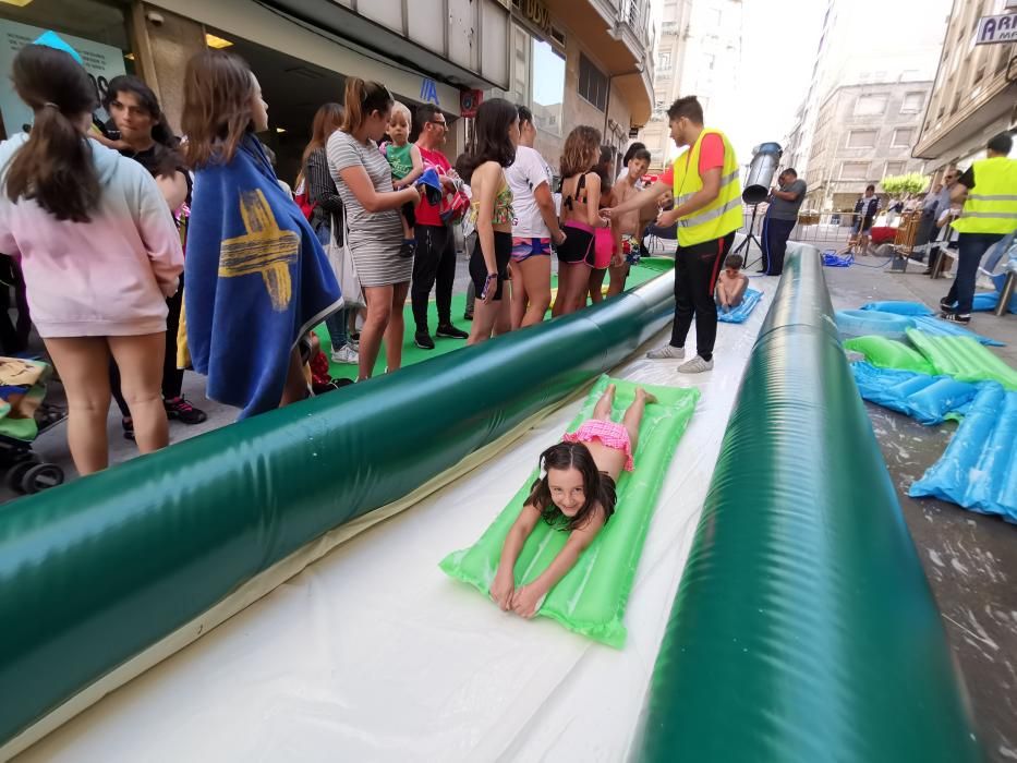
[[[734,124],[738,105],[731,94],[738,92],[743,71],[741,0],[666,0],[663,12],[653,117],[640,133],[653,170],[678,154],[667,108],[681,96],[694,95],[707,124]]]

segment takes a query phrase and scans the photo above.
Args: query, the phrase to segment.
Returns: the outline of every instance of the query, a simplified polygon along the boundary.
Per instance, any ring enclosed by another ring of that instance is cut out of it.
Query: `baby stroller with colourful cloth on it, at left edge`
[[[43,405],[52,370],[41,361],[0,356],[0,468],[16,493],[38,493],[63,483],[63,470],[32,450],[41,432],[65,415]]]

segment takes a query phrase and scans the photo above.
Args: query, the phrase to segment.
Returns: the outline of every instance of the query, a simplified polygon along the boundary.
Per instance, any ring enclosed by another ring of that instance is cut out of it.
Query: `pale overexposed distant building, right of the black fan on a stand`
[[[951,0],[928,0],[916,12],[908,3],[828,0],[809,92],[789,120],[782,158],[784,167],[795,167],[808,181],[807,208],[844,209],[868,183],[898,169],[922,170],[910,149],[918,141],[949,5]],[[881,119],[885,122],[876,124]],[[905,149],[895,142],[908,130],[911,142]],[[852,184],[851,192],[846,183]]]

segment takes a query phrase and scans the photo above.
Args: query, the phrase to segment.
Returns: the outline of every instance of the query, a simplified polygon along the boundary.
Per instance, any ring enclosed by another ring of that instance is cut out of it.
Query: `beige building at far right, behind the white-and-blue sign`
[[[967,167],[989,140],[1017,128],[1017,43],[976,45],[981,16],[1017,13],[1010,0],[954,0],[915,155],[932,170]]]

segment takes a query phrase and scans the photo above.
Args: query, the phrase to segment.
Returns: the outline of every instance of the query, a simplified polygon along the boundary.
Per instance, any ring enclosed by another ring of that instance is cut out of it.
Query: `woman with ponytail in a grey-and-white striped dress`
[[[392,170],[378,149],[395,100],[385,85],[347,77],[346,119],[328,138],[328,169],[346,213],[346,246],[367,302],[360,332],[359,379],[371,377],[385,339],[388,371],[402,365],[402,308],[413,258],[400,255],[403,204],[417,204],[416,187],[394,190]]]

